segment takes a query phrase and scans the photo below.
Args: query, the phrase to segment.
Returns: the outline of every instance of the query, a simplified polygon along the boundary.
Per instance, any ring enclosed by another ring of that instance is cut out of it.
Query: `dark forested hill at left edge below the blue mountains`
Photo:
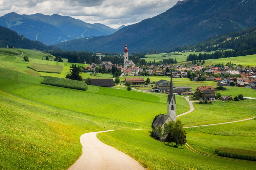
[[[37,50],[60,49],[55,46],[46,46],[39,41],[29,40],[24,35],[19,35],[11,29],[0,26],[0,47],[7,47],[7,45],[9,47]]]

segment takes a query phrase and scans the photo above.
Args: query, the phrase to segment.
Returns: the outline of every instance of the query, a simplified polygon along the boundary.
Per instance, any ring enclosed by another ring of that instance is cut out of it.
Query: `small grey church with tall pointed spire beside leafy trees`
[[[173,92],[173,77],[171,76],[171,83],[170,83],[170,94],[167,97],[167,114],[159,114],[155,122],[153,123],[152,127],[152,134],[160,138],[160,140],[164,140],[165,136],[162,137],[158,133],[159,125],[164,129],[165,123],[169,123],[170,121],[176,121],[176,100],[175,94]]]

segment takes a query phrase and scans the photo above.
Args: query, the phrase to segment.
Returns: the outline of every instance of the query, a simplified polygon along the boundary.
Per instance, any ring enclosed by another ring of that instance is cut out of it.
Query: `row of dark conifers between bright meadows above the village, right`
[[[215,51],[211,54],[189,54],[187,56],[187,61],[194,61],[194,60],[208,60],[208,59],[218,59],[218,58],[227,58],[227,57],[238,57],[244,55],[252,55],[256,54],[256,49],[249,49],[249,50],[227,50],[227,51]]]

